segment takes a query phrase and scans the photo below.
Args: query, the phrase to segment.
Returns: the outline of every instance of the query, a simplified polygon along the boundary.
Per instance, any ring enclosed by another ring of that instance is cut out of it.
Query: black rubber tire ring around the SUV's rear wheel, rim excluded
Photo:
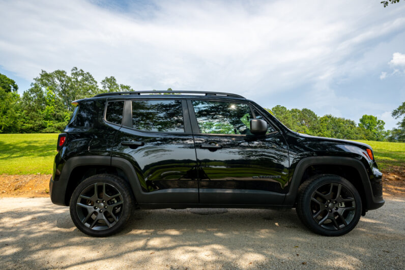
[[[100,174],[100,175],[94,175],[94,176],[84,179],[84,181],[81,182],[76,187],[76,189],[74,190],[72,197],[70,199],[70,216],[72,218],[73,223],[76,225],[76,227],[80,231],[84,232],[85,234],[91,235],[91,236],[105,237],[105,236],[109,236],[111,234],[117,233],[119,230],[121,230],[123,228],[126,221],[131,216],[132,199],[131,199],[130,194],[128,193],[127,187],[125,185],[123,185],[122,182],[123,182],[123,180],[117,176]],[[80,193],[85,188],[87,188],[90,185],[95,184],[95,183],[106,183],[106,184],[112,185],[115,189],[117,189],[121,193],[123,201],[124,201],[123,213],[122,213],[120,219],[118,220],[118,222],[111,228],[108,228],[108,229],[102,230],[102,231],[92,230],[92,229],[86,227],[83,223],[81,223],[80,219],[77,216],[76,202],[77,202],[77,199],[78,199]]]

